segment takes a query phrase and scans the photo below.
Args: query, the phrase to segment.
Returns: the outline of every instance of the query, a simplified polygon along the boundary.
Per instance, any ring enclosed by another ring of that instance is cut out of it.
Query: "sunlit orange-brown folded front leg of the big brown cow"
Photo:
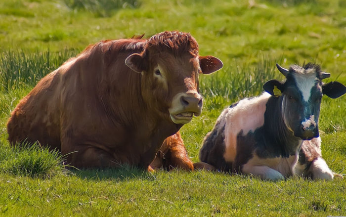
[[[193,171],[193,164],[187,155],[184,142],[179,132],[165,139],[155,159],[149,165],[148,171],[159,168],[166,170],[180,168]]]

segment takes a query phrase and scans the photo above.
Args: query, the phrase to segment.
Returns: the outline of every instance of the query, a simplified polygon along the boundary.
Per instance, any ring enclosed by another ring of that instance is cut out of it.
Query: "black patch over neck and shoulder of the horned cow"
[[[259,158],[289,158],[296,155],[302,140],[290,132],[281,118],[281,97],[270,97],[266,103],[264,125],[243,135],[237,135],[237,155],[234,172],[241,172],[253,154]]]

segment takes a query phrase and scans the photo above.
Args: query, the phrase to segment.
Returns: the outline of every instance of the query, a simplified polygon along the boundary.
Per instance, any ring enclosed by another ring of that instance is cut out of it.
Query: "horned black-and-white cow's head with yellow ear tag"
[[[322,95],[337,98],[346,93],[346,87],[339,82],[322,83],[330,74],[322,72],[319,65],[291,65],[289,70],[276,66],[286,80],[270,80],[263,85],[264,90],[281,97],[281,116],[295,136],[304,140],[318,137]]]

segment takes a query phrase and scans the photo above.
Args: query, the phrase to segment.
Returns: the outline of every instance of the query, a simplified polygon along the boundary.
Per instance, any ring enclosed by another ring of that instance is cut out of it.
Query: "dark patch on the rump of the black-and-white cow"
[[[216,123],[214,129],[204,139],[199,152],[199,159],[201,162],[213,165],[220,171],[227,172],[231,171],[232,163],[226,162],[223,158],[223,154],[225,153],[224,129],[224,125],[221,127],[219,123]]]

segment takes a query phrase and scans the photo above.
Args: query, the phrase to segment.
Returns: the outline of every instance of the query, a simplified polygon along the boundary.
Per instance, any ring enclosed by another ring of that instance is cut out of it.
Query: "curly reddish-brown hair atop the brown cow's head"
[[[145,49],[149,48],[158,52],[169,52],[174,56],[180,56],[184,53],[190,53],[193,56],[198,55],[198,44],[189,34],[178,31],[162,32],[148,39]]]

